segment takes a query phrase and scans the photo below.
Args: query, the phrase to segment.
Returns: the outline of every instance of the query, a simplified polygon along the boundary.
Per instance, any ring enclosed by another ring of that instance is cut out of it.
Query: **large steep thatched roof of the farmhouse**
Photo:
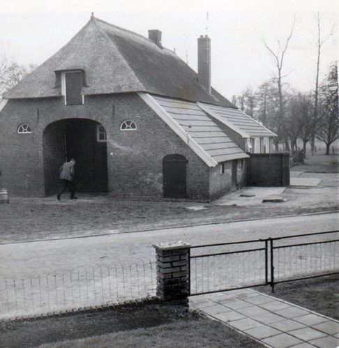
[[[55,71],[82,69],[85,95],[144,91],[234,107],[197,82],[197,73],[170,50],[92,17],[65,46],[6,93],[6,98],[61,96]]]

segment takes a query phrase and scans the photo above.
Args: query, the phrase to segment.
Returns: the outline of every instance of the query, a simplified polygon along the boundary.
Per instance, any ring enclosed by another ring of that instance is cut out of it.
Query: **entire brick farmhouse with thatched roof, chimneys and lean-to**
[[[116,197],[215,199],[246,184],[248,153],[270,130],[211,87],[211,40],[198,72],[149,38],[91,17],[0,105],[2,185],[49,196],[77,160],[77,190]]]

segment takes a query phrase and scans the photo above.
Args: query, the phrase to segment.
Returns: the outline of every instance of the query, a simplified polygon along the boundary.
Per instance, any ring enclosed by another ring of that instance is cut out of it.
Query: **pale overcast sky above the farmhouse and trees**
[[[329,63],[338,60],[338,0],[3,0],[0,56],[6,54],[24,65],[43,63],[86,24],[92,11],[102,20],[143,36],[148,35],[148,29],[159,29],[163,45],[175,48],[194,70],[197,38],[207,31],[212,85],[227,98],[247,86],[255,89],[276,74],[263,40],[276,50],[278,40],[284,42],[289,35],[294,16],[294,35],[284,63],[285,82],[301,91],[314,88],[317,11],[324,37],[336,24],[322,50],[322,77]]]

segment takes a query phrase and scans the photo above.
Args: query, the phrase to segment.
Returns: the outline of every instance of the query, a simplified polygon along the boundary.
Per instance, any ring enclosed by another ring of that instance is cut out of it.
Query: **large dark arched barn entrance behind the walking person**
[[[107,192],[107,142],[105,128],[89,119],[50,123],[43,133],[45,195],[59,187],[59,168],[75,158],[77,192]]]

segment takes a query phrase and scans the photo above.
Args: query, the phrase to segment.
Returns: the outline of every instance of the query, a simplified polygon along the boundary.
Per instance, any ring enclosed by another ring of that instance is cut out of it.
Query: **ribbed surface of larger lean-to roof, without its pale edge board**
[[[196,103],[160,96],[152,97],[216,162],[248,157]]]

